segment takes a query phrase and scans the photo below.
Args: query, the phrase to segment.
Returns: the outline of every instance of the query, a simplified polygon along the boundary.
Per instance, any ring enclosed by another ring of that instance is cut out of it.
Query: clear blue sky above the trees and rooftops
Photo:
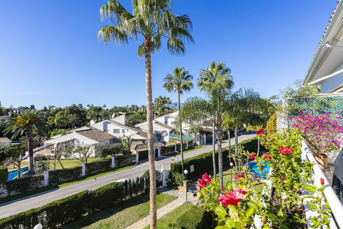
[[[0,100],[3,106],[34,104],[112,107],[145,104],[144,59],[137,46],[97,41],[106,0],[2,1],[0,7]],[[130,0],[120,0],[130,11]],[[252,87],[263,97],[303,79],[336,0],[202,1],[175,0],[176,14],[189,14],[195,44],[184,57],[166,49],[152,56],[153,97],[175,93],[163,78],[175,66],[199,77],[212,60],[232,69],[235,90]],[[194,88],[185,93],[200,95]]]

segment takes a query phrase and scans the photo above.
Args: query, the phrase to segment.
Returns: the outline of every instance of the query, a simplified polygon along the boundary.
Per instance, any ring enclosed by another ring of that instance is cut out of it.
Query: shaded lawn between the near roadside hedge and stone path
[[[176,196],[158,193],[157,209],[177,199]],[[141,195],[124,201],[116,206],[85,216],[61,229],[124,229],[149,215],[149,194]]]

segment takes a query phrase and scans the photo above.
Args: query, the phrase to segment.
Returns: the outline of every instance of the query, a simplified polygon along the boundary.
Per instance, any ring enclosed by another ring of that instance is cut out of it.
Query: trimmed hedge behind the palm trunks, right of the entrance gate
[[[244,146],[244,150],[248,150],[250,153],[257,152],[257,144],[258,144],[257,137],[238,143],[238,145]],[[265,148],[260,145],[260,151],[264,151],[264,150]],[[231,152],[235,152],[235,145],[231,146]],[[216,150],[215,153],[216,153],[216,164],[218,164],[218,150]],[[223,163],[224,164],[229,163],[229,159],[227,157],[228,155],[229,155],[229,148],[224,147],[223,148]],[[212,152],[203,153],[203,154],[200,154],[199,156],[185,159],[184,168],[189,170],[190,165],[194,165],[193,175],[199,175],[210,170],[210,168],[213,168]],[[170,164],[169,174],[172,174],[172,172],[182,173],[181,161]],[[170,178],[173,180],[172,177]]]

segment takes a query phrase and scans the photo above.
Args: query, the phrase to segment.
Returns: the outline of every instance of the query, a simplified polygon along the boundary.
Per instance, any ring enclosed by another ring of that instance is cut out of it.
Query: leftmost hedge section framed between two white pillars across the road
[[[73,180],[82,176],[82,166],[49,171],[49,185]]]

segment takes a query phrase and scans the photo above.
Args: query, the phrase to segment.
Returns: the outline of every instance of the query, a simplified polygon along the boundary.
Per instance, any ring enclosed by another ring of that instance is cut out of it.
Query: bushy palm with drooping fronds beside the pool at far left
[[[4,133],[13,133],[12,139],[18,135],[26,134],[27,149],[28,149],[28,172],[34,173],[33,165],[33,130],[42,134],[47,134],[49,124],[45,121],[43,115],[40,115],[37,110],[20,110],[20,114],[9,118]]]

